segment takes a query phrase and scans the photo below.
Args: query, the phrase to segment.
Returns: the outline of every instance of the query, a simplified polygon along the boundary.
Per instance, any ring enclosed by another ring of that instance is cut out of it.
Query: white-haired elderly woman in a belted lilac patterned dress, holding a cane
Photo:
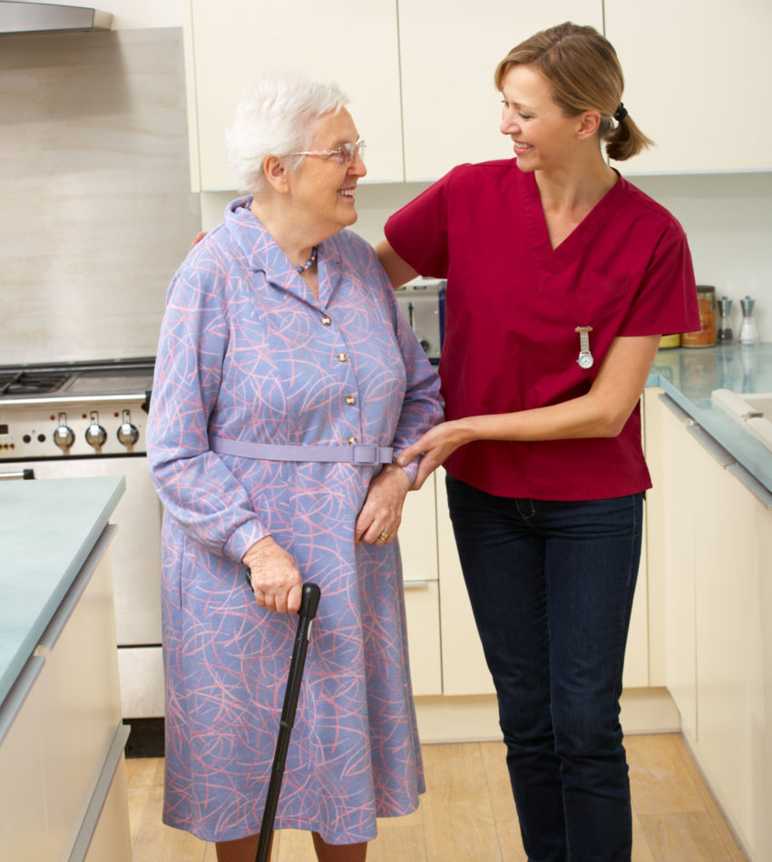
[[[277,828],[363,860],[424,790],[395,542],[438,380],[357,220],[333,84],[264,76],[228,136],[249,197],[176,274],[148,453],[165,508],[164,821],[251,860],[304,579],[322,601]],[[245,580],[249,566],[254,594]]]

